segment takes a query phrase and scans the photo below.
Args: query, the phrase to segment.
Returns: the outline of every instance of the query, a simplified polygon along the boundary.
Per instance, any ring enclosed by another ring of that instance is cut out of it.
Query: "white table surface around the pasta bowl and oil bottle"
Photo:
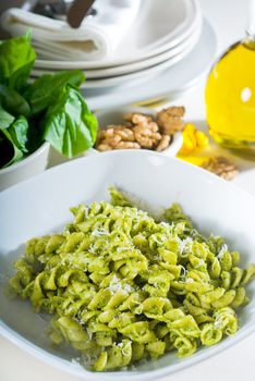
[[[215,27],[221,52],[239,40],[246,27],[247,0],[199,0],[203,11]],[[205,124],[204,83],[173,103],[186,108],[186,120]],[[242,172],[235,183],[255,196],[255,162],[239,160]],[[1,308],[1,306],[0,306]],[[193,367],[161,379],[162,381],[245,381],[255,380],[255,333],[233,347]],[[34,358],[0,336],[0,381],[80,381]]]

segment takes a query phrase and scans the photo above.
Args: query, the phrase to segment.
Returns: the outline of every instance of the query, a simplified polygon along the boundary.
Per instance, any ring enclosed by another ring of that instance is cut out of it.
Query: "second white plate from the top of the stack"
[[[148,59],[124,64],[124,65],[119,65],[119,66],[112,66],[112,67],[107,67],[107,69],[84,69],[84,73],[86,75],[86,78],[93,79],[93,78],[106,78],[106,77],[112,77],[117,75],[123,75],[123,74],[129,74],[133,72],[137,72],[144,69],[147,69],[149,66],[159,64],[163,61],[171,60],[175,58],[178,54],[181,54],[184,51],[192,50],[192,48],[195,46],[197,42],[199,35],[202,30],[202,23],[199,26],[197,26],[195,33],[191,35],[182,44],[178,45],[173,49],[167,50],[162,52],[161,54],[150,57]],[[52,73],[58,73],[58,70],[44,70],[44,69],[34,69],[32,71],[33,76],[40,76],[42,74],[52,74]]]

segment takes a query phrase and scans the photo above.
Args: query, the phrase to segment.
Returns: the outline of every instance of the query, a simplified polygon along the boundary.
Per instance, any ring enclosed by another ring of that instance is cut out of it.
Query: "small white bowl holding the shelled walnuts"
[[[145,107],[122,107],[118,109],[107,109],[107,110],[96,111],[95,115],[97,116],[99,128],[104,130],[111,124],[117,124],[117,125],[123,124],[124,115],[132,112],[141,112],[147,115],[151,115],[154,119],[156,119],[156,115],[157,115],[157,111]],[[178,151],[182,147],[182,142],[183,142],[182,133],[174,134],[173,140],[170,144],[170,146],[163,151],[161,151],[160,153],[169,157],[175,157]]]

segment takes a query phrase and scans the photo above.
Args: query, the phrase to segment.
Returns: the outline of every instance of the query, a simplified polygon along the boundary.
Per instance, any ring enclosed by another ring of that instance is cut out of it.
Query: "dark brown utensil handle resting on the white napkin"
[[[74,0],[68,12],[69,25],[78,28],[94,2],[95,0]]]

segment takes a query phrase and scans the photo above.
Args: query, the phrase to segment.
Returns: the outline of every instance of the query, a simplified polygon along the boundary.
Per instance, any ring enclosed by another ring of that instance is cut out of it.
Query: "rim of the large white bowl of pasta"
[[[124,152],[124,153],[123,153]],[[148,152],[148,151],[147,151]],[[147,155],[146,150],[136,150],[136,149],[131,149],[131,150],[113,150],[113,151],[106,151],[101,152],[101,156],[120,156],[120,155],[139,155],[139,156],[146,156]],[[151,151],[153,155],[159,155],[158,152]],[[92,156],[93,157],[93,156]],[[93,160],[92,157],[82,157],[76,159],[77,162],[83,162],[83,161],[89,161]],[[245,197],[248,197],[253,202],[254,202],[254,196],[247,193],[246,190],[242,189],[238,185],[233,183],[229,183],[226,180],[217,176],[216,174],[208,172],[202,168],[195,167],[194,164],[191,164],[185,161],[181,161],[175,158],[165,158],[165,160],[174,160],[178,161],[179,163],[181,162],[181,165],[184,167],[190,167],[190,169],[193,172],[199,172],[201,176],[208,179],[210,181],[215,181],[218,184],[226,184],[223,186],[228,186],[229,188],[232,188],[234,192],[242,193]],[[53,167],[49,169],[47,172],[49,175],[50,173],[58,173],[59,171],[62,171],[63,165],[66,168],[74,165],[73,161],[65,162],[63,164]],[[42,173],[31,177],[26,180],[23,183],[19,183],[15,186],[16,187],[22,187],[24,186],[25,183],[31,183],[35,182],[35,179],[39,179]],[[5,189],[4,192],[10,192],[10,189]],[[253,309],[254,310],[254,309]],[[25,339],[22,334],[17,333],[14,329],[10,328],[7,323],[4,323],[0,319],[0,334],[2,334],[4,337],[7,337],[9,341],[11,341],[14,345],[19,346],[21,349],[25,351],[29,355],[34,356],[35,358],[38,358],[45,364],[48,364],[49,366],[54,367],[56,369],[62,370],[66,372],[66,374],[72,374],[80,377],[81,380],[83,379],[84,381],[112,381],[113,379],[117,379],[117,377],[121,377],[123,381],[148,381],[148,380],[155,380],[155,378],[160,379],[162,377],[170,377],[170,374],[174,374],[175,372],[187,369],[189,367],[196,365],[209,357],[212,357],[215,355],[220,354],[221,352],[230,348],[231,346],[235,345],[243,339],[247,337],[250,334],[255,332],[255,324],[254,324],[254,315],[251,318],[251,324],[243,325],[234,336],[232,337],[226,337],[223,341],[218,343],[215,346],[207,347],[203,352],[197,352],[197,355],[191,356],[189,358],[185,358],[183,361],[179,364],[169,364],[166,367],[159,367],[153,370],[145,370],[143,373],[131,373],[129,371],[123,372],[123,371],[109,371],[109,372],[92,372],[88,371],[87,369],[84,369],[82,366],[77,366],[75,364],[72,364],[70,359],[65,359],[57,354],[49,353],[47,349],[41,348],[37,344],[34,344],[29,340]]]

